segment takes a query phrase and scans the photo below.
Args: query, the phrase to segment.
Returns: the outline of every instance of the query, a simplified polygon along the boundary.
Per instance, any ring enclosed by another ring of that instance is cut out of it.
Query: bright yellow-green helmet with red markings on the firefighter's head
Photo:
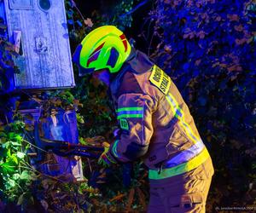
[[[106,68],[114,73],[119,72],[130,53],[131,45],[123,32],[115,26],[100,26],[84,37],[73,61],[80,75]]]

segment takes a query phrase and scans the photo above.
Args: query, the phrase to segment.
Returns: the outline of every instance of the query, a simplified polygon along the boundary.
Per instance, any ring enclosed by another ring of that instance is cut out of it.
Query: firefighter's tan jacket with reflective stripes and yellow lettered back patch
[[[147,55],[136,51],[110,91],[121,130],[109,149],[113,158],[124,163],[143,158],[153,181],[196,168],[197,175],[207,170],[212,176],[212,160],[189,108],[172,79]]]

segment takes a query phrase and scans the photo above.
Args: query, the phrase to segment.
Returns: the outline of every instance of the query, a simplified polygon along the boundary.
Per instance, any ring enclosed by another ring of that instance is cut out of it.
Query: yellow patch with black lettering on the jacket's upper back
[[[160,67],[154,65],[152,73],[149,77],[149,81],[154,84],[165,95],[168,93],[171,86],[171,78],[160,69]]]

